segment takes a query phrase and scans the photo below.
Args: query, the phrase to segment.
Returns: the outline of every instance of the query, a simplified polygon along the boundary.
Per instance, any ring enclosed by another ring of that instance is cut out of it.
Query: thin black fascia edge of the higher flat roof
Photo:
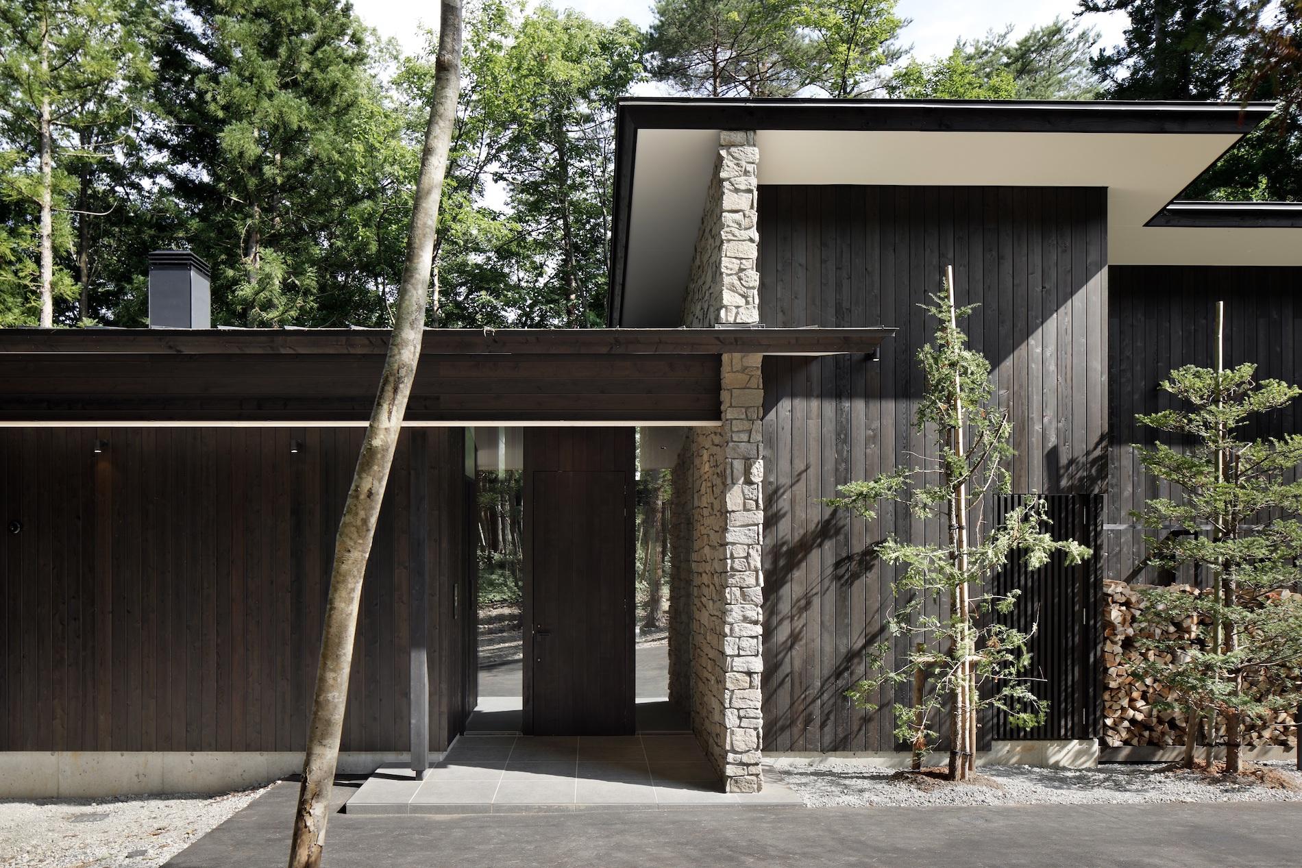
[[[616,112],[607,323],[622,318],[633,167],[641,129],[1243,135],[1275,103],[625,98]]]

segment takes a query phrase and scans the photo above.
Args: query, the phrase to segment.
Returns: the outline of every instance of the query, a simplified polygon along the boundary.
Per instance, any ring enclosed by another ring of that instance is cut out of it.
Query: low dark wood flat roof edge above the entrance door
[[[405,424],[717,424],[720,355],[891,328],[427,329]],[[363,426],[388,331],[4,329],[0,426]]]

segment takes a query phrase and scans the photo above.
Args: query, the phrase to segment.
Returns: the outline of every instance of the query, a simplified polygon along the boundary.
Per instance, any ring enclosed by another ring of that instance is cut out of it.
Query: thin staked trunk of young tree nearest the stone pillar
[[[949,294],[949,328],[950,337],[958,331],[958,319],[954,311],[954,269],[945,265],[945,290]],[[966,454],[963,444],[963,397],[960,373],[954,372],[954,420],[952,432],[954,454],[962,458]],[[949,506],[949,541],[954,557],[954,569],[961,575],[967,573],[967,480],[966,478],[954,488]],[[949,778],[953,781],[967,780],[967,772],[973,761],[973,698],[971,698],[971,638],[967,632],[967,583],[962,582],[954,588],[950,601],[954,614],[958,617],[958,690],[954,691],[954,711],[950,724],[950,737],[953,748],[949,752]]]

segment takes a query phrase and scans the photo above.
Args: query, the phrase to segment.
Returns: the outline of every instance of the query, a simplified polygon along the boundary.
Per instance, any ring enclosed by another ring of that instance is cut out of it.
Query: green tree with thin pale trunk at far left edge
[[[92,197],[139,124],[150,13],[134,0],[18,0],[0,8],[0,319],[55,323],[77,286],[56,259],[89,256]],[[108,203],[112,207],[112,203]],[[81,277],[86,280],[86,268]],[[86,310],[82,306],[81,315]],[[76,321],[77,315],[64,319]]]

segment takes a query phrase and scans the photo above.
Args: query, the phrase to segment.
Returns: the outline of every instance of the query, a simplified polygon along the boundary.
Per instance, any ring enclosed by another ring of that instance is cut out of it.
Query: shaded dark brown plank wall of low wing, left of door
[[[362,433],[0,429],[0,750],[303,750]],[[464,720],[464,436],[418,429],[400,442],[362,593],[345,751],[409,747],[411,605],[428,606],[431,748]],[[424,601],[409,599],[411,570],[427,571]]]

